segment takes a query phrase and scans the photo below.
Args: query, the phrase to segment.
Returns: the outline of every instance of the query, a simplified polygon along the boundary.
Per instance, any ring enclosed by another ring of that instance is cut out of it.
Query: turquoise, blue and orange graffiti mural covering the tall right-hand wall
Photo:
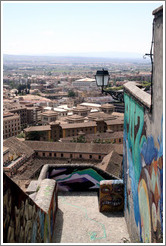
[[[163,120],[158,142],[146,135],[144,108],[124,94],[125,215],[138,241],[162,242],[163,234]],[[134,218],[132,216],[134,215]],[[137,232],[133,228],[137,228]]]

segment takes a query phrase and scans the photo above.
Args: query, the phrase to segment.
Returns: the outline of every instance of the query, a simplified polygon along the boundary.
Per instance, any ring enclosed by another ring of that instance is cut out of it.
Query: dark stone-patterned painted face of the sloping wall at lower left
[[[46,213],[6,174],[3,181],[3,242],[51,242],[57,210],[56,189]]]

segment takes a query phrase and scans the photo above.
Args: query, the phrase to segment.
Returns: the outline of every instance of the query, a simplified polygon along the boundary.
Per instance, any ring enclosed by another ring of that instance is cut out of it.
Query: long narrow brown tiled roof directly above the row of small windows
[[[24,141],[24,143],[33,150],[38,151],[56,151],[56,152],[75,152],[75,153],[96,153],[108,154],[114,149],[111,144],[94,143],[63,143],[46,141]]]

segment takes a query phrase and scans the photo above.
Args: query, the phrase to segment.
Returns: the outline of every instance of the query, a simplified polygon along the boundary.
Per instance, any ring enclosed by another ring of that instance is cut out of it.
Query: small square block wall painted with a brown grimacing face
[[[100,212],[116,212],[124,209],[123,180],[104,180],[100,182]]]

